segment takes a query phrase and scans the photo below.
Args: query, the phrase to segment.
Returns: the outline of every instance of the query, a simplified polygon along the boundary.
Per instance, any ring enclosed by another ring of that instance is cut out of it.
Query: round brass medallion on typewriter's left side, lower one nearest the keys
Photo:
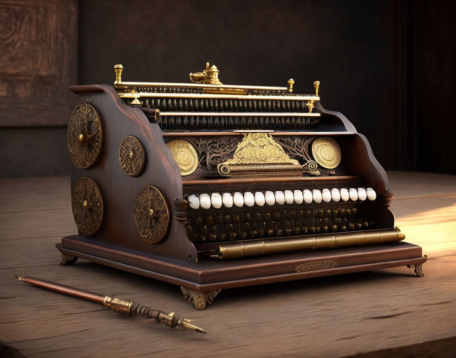
[[[141,189],[134,203],[134,219],[148,243],[163,240],[169,226],[169,209],[160,190],[151,185]]]

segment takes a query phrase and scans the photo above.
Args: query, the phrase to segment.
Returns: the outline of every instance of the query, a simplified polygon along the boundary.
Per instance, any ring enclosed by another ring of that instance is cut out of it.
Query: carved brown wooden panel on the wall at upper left
[[[68,124],[76,0],[0,0],[0,127]]]

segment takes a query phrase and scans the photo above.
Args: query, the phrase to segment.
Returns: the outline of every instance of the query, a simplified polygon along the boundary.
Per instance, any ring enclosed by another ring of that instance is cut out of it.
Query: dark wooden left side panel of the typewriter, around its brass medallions
[[[79,236],[94,244],[116,245],[113,260],[120,247],[186,261],[188,257],[197,257],[196,249],[186,239],[184,226],[177,219],[174,199],[182,197],[182,179],[159,127],[150,124],[140,109],[126,105],[112,86],[72,86],[70,90],[79,96],[79,103],[90,103],[96,109],[103,131],[101,155],[95,165],[88,169],[72,166],[71,188],[81,177],[88,177],[97,184],[103,199],[100,228],[90,237],[79,230]],[[127,175],[120,164],[120,146],[127,136],[139,140],[145,152],[144,169],[135,177]],[[158,243],[148,242],[135,220],[136,200],[146,186],[157,188],[168,208],[169,226]]]

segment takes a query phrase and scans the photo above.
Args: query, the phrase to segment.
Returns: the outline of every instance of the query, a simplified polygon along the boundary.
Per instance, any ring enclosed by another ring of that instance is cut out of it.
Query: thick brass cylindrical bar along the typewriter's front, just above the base
[[[394,229],[341,232],[310,237],[249,240],[219,245],[216,256],[223,260],[302,250],[332,249],[344,246],[390,243],[402,241],[404,238],[405,235],[396,227]]]

